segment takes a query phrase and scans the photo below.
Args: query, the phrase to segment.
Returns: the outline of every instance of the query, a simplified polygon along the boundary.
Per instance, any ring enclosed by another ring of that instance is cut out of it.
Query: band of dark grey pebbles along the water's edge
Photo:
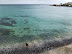
[[[0,49],[0,54],[39,54],[44,51],[49,51],[54,48],[62,47],[65,45],[69,45],[72,43],[72,38],[65,38],[61,40],[53,40],[53,41],[48,41],[44,42],[43,44],[37,46],[37,45],[32,45],[31,47],[17,47],[17,48],[3,48]]]

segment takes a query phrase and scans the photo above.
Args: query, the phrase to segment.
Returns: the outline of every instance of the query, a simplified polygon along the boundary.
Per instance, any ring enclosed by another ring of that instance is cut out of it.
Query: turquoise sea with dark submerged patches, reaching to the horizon
[[[71,36],[71,7],[0,5],[0,44]]]

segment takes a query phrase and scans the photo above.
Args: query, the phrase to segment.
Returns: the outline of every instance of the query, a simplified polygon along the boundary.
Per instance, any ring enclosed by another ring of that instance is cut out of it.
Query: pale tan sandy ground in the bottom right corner
[[[72,54],[72,44],[46,51],[40,54]]]

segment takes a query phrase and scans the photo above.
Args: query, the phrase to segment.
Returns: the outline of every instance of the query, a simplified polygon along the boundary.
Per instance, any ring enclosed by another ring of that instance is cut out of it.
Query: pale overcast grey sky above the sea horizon
[[[0,0],[0,4],[56,4],[72,2],[72,0]]]

